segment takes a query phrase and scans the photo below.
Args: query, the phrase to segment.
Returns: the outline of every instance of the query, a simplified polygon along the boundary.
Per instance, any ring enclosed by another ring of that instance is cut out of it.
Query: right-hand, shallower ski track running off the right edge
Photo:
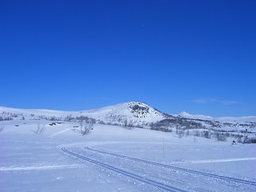
[[[129,159],[129,160],[132,160],[132,161],[142,162],[142,163],[146,163],[146,164],[150,164],[150,165],[154,165],[154,166],[166,167],[166,168],[170,168],[170,169],[173,169],[173,170],[181,170],[183,172],[190,173],[190,174],[198,174],[198,175],[211,177],[211,178],[219,178],[219,179],[222,179],[222,180],[225,180],[225,181],[239,182],[239,183],[242,183],[242,184],[256,186],[256,182],[250,182],[250,181],[246,181],[246,180],[239,179],[239,178],[230,178],[230,177],[226,177],[226,176],[222,176],[222,175],[218,175],[218,174],[208,174],[208,173],[198,171],[198,170],[189,170],[189,169],[181,168],[181,167],[178,167],[178,166],[170,166],[170,165],[162,164],[162,163],[159,163],[159,162],[151,162],[151,161],[144,160],[144,159],[141,159],[141,158],[133,158],[133,157],[130,157],[130,156],[127,156],[127,155],[124,155],[124,154],[115,154],[115,153],[111,153],[111,152],[108,152],[108,151],[105,151],[105,150],[95,150],[95,149],[92,149],[88,146],[86,146],[85,149],[86,150],[91,150],[91,151],[94,151],[94,152],[100,153],[100,154],[110,154],[110,155],[118,157],[118,158],[126,158],[126,159]]]

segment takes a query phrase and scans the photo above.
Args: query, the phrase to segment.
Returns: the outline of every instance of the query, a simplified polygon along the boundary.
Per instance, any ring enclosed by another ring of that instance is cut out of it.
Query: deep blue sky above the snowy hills
[[[256,1],[0,0],[0,106],[256,115]]]

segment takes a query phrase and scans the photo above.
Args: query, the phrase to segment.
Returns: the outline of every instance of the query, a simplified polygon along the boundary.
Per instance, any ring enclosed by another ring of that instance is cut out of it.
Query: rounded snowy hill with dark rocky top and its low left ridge
[[[95,110],[61,111],[61,110],[27,110],[0,107],[2,118],[94,118],[98,122],[122,126],[143,126],[150,122],[158,122],[165,114],[142,102],[124,102],[114,106],[106,106]]]

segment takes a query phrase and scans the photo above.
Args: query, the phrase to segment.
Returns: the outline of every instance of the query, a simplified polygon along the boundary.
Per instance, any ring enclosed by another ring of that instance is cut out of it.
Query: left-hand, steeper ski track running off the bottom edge
[[[80,154],[76,154],[70,150],[66,150],[65,147],[62,147],[62,150],[66,153],[66,154],[70,154],[70,155],[73,155],[74,157],[77,157],[77,158],[82,158],[83,160],[86,160],[87,162],[91,162],[93,163],[94,165],[98,165],[98,166],[102,166],[108,170],[113,170],[114,172],[118,173],[118,174],[123,174],[123,175],[126,175],[127,177],[129,178],[133,178],[133,179],[136,179],[140,182],[144,182],[144,183],[147,183],[149,184],[150,186],[154,186],[154,187],[157,187],[158,189],[162,189],[162,190],[166,190],[166,191],[170,191],[170,192],[186,192],[185,190],[180,190],[178,188],[175,188],[174,186],[168,186],[166,184],[163,184],[161,182],[157,182],[157,181],[154,181],[154,180],[151,180],[149,178],[143,178],[142,176],[139,176],[137,174],[132,174],[126,170],[121,170],[121,169],[118,169],[114,166],[110,166],[110,165],[107,165],[105,163],[102,163],[102,162],[98,162],[98,161],[95,161],[94,159],[91,159],[91,158],[87,158],[85,156],[82,156]]]

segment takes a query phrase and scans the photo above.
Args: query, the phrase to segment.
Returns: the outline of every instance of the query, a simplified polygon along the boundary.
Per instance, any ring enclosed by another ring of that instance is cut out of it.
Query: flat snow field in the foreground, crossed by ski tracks
[[[0,191],[256,191],[254,144],[50,123],[0,122]]]

